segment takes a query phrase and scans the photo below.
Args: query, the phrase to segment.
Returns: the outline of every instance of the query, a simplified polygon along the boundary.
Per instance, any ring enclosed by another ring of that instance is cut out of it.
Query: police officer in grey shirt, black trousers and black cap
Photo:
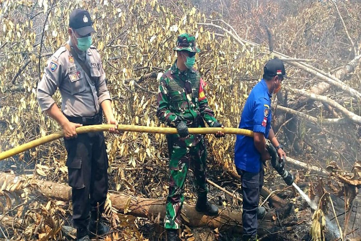
[[[73,222],[81,241],[109,232],[101,221],[108,192],[108,156],[103,132],[77,135],[75,128],[101,124],[104,112],[108,124],[114,124],[109,131],[119,133],[100,55],[91,45],[93,32],[89,12],[74,9],[69,18],[69,41],[48,60],[37,95],[42,111],[62,126],[65,135]],[[62,96],[61,111],[52,98],[57,88]]]

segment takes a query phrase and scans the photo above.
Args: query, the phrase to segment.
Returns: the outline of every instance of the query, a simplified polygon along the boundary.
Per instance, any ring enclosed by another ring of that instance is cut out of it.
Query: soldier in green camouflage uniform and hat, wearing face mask
[[[194,167],[195,184],[198,190],[196,210],[209,216],[218,215],[218,208],[207,200],[206,146],[204,135],[189,134],[188,127],[211,127],[223,125],[214,118],[205,96],[205,83],[200,73],[193,68],[195,37],[181,34],[177,39],[177,61],[163,74],[158,91],[158,118],[178,134],[167,135],[169,151],[169,194],[166,203],[165,228],[169,241],[176,240],[176,231],[181,224],[181,209],[184,201],[183,187],[190,164]],[[216,137],[223,137],[219,131]]]

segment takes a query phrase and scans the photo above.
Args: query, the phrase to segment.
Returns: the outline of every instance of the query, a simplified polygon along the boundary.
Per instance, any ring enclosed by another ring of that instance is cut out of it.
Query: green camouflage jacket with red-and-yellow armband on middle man
[[[214,112],[209,108],[205,97],[204,82],[196,69],[181,72],[177,62],[160,78],[158,90],[157,116],[160,121],[170,127],[175,127],[180,121],[188,127],[208,126],[216,122]],[[179,137],[179,136],[178,136]],[[198,135],[190,135],[190,143],[198,143]]]

